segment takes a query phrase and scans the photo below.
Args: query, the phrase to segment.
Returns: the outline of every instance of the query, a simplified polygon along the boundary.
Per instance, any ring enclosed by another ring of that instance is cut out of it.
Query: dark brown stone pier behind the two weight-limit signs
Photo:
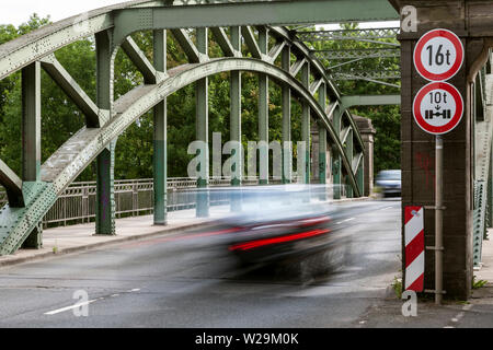
[[[461,39],[466,57],[460,71],[449,80],[463,97],[466,112],[460,124],[444,139],[444,289],[447,298],[471,295],[472,210],[474,172],[474,103],[473,83],[486,62],[493,35],[491,1],[391,1],[398,10],[413,5],[417,10],[417,32],[401,33],[401,166],[402,166],[402,234],[405,206],[429,206],[435,202],[435,137],[425,133],[413,120],[412,103],[417,91],[427,83],[413,68],[413,49],[417,39],[432,28],[447,28]],[[426,164],[432,164],[429,167]],[[435,211],[425,210],[425,246],[434,246]],[[404,240],[404,238],[402,238]],[[405,261],[402,247],[403,270]],[[425,289],[435,287],[434,250],[425,252]],[[405,278],[405,277],[404,277]]]

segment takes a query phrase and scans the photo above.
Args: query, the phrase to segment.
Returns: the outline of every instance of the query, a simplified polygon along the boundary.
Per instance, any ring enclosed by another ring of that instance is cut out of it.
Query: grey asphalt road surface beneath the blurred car
[[[357,206],[346,264],[328,278],[234,269],[200,238],[168,234],[0,268],[0,327],[358,327],[401,268],[401,203]]]

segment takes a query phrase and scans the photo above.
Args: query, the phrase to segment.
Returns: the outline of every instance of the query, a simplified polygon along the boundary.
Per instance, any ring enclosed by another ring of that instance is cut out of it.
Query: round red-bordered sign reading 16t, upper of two
[[[460,70],[463,56],[462,42],[455,33],[433,30],[417,40],[413,59],[421,77],[431,81],[444,81]]]

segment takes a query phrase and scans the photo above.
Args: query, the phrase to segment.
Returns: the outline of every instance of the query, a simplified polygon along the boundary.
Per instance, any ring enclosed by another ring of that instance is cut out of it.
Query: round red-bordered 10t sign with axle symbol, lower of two
[[[449,83],[428,83],[414,97],[414,120],[428,133],[442,135],[452,130],[459,124],[462,114],[462,96]]]

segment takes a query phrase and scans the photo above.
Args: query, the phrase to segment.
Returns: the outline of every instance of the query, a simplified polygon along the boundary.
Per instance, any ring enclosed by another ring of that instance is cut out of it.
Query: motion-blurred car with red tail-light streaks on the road
[[[242,191],[241,212],[216,222],[225,247],[242,265],[287,267],[302,280],[337,269],[346,213],[318,200],[320,188],[286,188]]]

